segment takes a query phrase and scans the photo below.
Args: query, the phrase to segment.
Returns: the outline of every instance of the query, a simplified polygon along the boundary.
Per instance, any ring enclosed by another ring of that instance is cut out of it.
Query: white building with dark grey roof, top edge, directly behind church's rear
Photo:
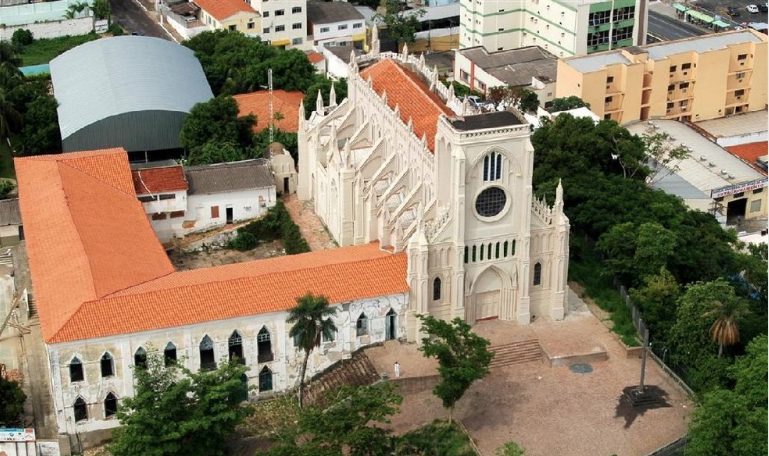
[[[308,39],[315,46],[365,46],[365,20],[351,3],[307,2],[307,21]]]

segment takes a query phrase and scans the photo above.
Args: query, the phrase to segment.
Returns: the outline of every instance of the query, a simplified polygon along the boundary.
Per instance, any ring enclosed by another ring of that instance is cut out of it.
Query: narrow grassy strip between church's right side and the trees
[[[569,260],[569,280],[585,287],[585,294],[602,310],[611,313],[611,321],[614,323],[611,330],[625,345],[638,346],[633,317],[619,291],[614,288],[611,276],[605,273],[598,252],[592,244],[579,236],[572,237],[572,246],[572,251],[579,254]]]

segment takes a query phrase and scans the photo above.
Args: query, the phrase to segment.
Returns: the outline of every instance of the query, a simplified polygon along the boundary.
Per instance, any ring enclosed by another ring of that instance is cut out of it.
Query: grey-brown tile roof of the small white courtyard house
[[[190,185],[190,195],[238,192],[275,185],[265,160],[188,166],[184,174]]]

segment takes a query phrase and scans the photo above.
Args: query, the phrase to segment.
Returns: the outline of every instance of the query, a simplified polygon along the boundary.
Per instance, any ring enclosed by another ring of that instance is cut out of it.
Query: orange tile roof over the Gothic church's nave
[[[414,133],[419,138],[426,135],[427,147],[434,151],[438,116],[454,113],[419,77],[391,59],[382,59],[361,72],[364,80],[369,76],[374,90],[380,96],[387,91],[388,106],[392,109],[399,106],[401,120],[408,123],[412,119]]]

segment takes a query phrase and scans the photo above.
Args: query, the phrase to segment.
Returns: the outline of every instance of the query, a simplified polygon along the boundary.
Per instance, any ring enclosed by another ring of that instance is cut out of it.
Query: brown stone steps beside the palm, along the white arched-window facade
[[[365,353],[360,352],[351,359],[337,362],[308,383],[305,387],[305,399],[307,403],[318,404],[327,391],[344,385],[370,385],[379,379],[380,376],[371,360]]]

